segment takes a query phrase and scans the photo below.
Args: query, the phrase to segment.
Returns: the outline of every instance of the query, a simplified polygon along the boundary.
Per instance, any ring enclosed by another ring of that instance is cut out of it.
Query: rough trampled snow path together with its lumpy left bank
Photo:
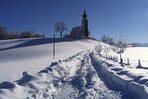
[[[13,90],[0,90],[0,99],[122,98],[120,92],[108,89],[100,80],[89,54],[90,51],[83,51],[66,60],[53,62],[35,76],[23,73],[20,80],[9,82],[14,85]]]

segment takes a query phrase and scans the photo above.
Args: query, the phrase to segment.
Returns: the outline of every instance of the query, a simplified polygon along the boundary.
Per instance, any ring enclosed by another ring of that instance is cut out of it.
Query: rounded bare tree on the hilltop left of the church
[[[63,32],[66,31],[67,28],[66,28],[66,25],[64,22],[60,22],[58,21],[56,24],[55,24],[55,32],[56,33],[60,33],[60,37],[62,39],[62,36],[63,36]]]

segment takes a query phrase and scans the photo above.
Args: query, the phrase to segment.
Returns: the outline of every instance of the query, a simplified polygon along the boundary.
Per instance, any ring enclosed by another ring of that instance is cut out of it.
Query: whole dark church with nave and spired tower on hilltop
[[[70,38],[88,38],[90,32],[88,30],[88,19],[84,10],[81,26],[72,28]]]

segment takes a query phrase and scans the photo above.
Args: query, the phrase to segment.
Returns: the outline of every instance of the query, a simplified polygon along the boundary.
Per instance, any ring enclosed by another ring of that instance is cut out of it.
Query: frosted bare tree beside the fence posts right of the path
[[[121,54],[126,50],[127,43],[124,40],[117,40],[117,43],[113,47],[113,50],[120,55],[120,64],[123,66],[123,59]]]

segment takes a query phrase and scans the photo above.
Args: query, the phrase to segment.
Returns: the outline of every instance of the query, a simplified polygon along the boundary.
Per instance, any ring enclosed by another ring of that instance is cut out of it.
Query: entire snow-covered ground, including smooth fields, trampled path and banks
[[[94,40],[52,39],[0,41],[0,99],[147,99],[147,47],[128,48],[123,54],[130,65],[115,61],[110,46]],[[137,52],[138,51],[138,52]],[[136,54],[135,54],[136,53]],[[143,54],[142,54],[143,53]],[[144,56],[142,56],[144,55]]]

